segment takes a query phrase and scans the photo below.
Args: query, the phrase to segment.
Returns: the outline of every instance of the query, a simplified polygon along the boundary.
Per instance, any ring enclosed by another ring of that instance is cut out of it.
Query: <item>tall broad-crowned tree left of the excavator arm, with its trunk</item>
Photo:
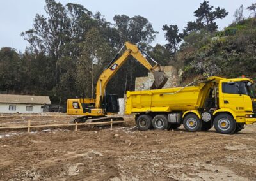
[[[76,44],[83,41],[83,34],[91,25],[92,12],[79,4],[63,6],[54,0],[45,0],[47,17],[36,14],[33,28],[22,32],[21,36],[30,44],[36,54],[51,56],[55,62],[54,83],[61,77],[60,59],[77,56]]]

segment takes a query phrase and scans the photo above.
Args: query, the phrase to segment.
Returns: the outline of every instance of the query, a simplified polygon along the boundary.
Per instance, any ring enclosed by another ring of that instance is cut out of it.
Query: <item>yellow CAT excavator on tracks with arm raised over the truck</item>
[[[125,49],[122,55],[121,52]],[[154,83],[150,89],[161,89],[166,81],[167,76],[160,69],[160,65],[150,57],[146,52],[141,50],[140,47],[132,43],[125,42],[123,47],[115,55],[114,59],[109,63],[108,67],[100,75],[96,86],[95,99],[68,99],[67,100],[67,113],[69,115],[79,115],[70,122],[100,122],[108,120],[124,120],[122,117],[108,117],[109,113],[118,113],[118,96],[116,94],[105,94],[106,85],[118,69],[127,61],[128,57],[132,56],[139,61],[148,71],[154,75]],[[154,62],[154,66],[148,62]],[[118,86],[118,85],[116,85]]]

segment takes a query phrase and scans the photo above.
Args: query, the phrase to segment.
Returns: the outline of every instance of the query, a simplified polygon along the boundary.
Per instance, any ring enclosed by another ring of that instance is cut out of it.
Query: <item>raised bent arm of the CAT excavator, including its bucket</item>
[[[124,54],[119,56],[122,49],[126,47]],[[132,55],[137,61],[139,61],[148,71],[151,71],[154,75],[155,81],[151,87],[151,89],[161,89],[163,85],[167,81],[166,75],[161,71],[159,64],[157,64],[154,59],[152,59],[147,53],[143,52],[140,48],[132,43],[125,42],[125,45],[121,48],[121,50],[116,54],[115,58],[109,64],[108,68],[103,71],[100,75],[97,86],[96,86],[96,100],[95,100],[95,108],[100,108],[100,103],[102,102],[102,98],[106,89],[106,85],[113,75],[118,71],[119,68],[127,61],[129,55]],[[147,61],[145,56],[151,59],[156,63],[155,66],[151,66],[151,64]]]

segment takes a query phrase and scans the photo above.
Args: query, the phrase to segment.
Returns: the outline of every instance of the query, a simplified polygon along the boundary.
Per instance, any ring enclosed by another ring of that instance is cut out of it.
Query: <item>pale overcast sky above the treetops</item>
[[[57,2],[59,2],[57,0]],[[195,11],[203,0],[60,0],[61,4],[77,3],[92,11],[93,14],[99,11],[106,20],[113,22],[116,14],[124,14],[129,17],[141,15],[148,18],[155,31],[158,31],[154,44],[166,43],[164,32],[161,30],[164,24],[177,24],[180,31],[186,22],[195,20]],[[234,11],[241,4],[244,7],[256,3],[254,0],[209,0],[211,6],[225,8],[229,12],[223,20],[218,20],[220,29],[226,27],[234,20]],[[44,0],[0,0],[0,48],[12,47],[24,52],[28,43],[20,36],[22,31],[32,27],[36,13],[45,15]],[[244,10],[244,16],[248,17],[250,12]]]

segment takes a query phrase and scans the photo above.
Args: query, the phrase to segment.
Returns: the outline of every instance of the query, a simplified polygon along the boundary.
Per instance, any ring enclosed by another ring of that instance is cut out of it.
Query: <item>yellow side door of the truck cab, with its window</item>
[[[230,108],[234,112],[244,112],[244,95],[241,82],[223,82],[220,107]]]

